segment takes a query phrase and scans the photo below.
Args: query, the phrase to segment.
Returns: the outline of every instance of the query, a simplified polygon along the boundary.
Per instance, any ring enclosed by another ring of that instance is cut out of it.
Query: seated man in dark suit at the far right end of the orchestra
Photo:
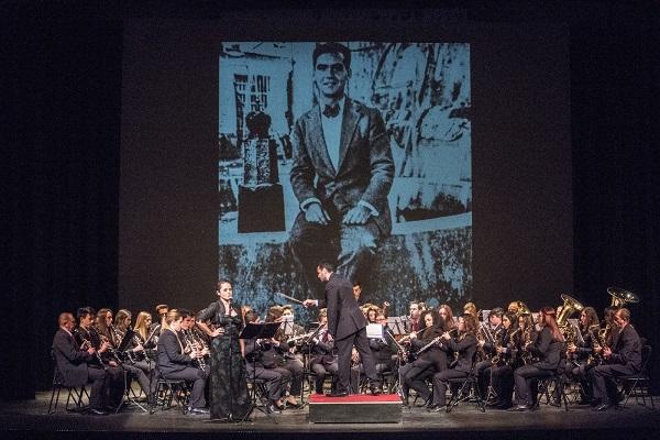
[[[641,370],[641,341],[637,330],[630,324],[630,311],[620,308],[614,314],[616,336],[610,346],[604,346],[603,364],[590,370],[594,396],[601,405],[595,409],[604,411],[618,403],[616,377],[637,374]]]

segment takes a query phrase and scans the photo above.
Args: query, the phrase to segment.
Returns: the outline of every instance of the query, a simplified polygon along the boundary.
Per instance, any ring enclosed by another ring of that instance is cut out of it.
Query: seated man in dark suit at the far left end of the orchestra
[[[68,312],[59,314],[57,320],[59,329],[53,338],[53,354],[57,369],[67,386],[82,386],[91,384],[88,414],[105,415],[103,397],[108,384],[108,372],[91,365],[97,351],[90,344],[82,348],[78,345],[72,331],[76,326],[74,316]]]

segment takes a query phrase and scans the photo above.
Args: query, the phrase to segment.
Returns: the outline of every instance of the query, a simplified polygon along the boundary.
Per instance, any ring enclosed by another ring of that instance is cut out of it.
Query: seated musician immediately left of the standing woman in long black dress
[[[186,311],[187,312],[187,311]],[[166,330],[163,330],[158,338],[158,371],[163,378],[174,381],[193,382],[193,392],[188,402],[189,414],[208,414],[206,409],[206,398],[204,391],[207,377],[209,376],[209,365],[200,369],[195,364],[195,360],[204,358],[204,351],[195,346],[187,346],[184,342],[183,330],[188,330],[193,323],[190,312],[184,314],[172,309],[165,317]]]

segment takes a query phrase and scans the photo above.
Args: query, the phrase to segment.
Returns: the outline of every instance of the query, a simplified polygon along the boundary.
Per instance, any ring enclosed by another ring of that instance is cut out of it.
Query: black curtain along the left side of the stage
[[[1,377],[13,399],[48,386],[61,311],[117,307],[122,40],[120,20],[24,16],[2,33],[12,319]]]

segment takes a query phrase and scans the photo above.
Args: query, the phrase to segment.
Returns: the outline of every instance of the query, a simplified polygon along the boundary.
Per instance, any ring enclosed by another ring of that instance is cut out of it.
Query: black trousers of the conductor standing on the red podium
[[[374,359],[369,346],[369,339],[366,338],[366,328],[364,328],[348,338],[334,341],[338,352],[338,392],[349,392],[351,388],[351,353],[353,345],[358,350],[358,353],[360,353],[364,375],[374,384],[378,382],[378,374],[376,373]]]

